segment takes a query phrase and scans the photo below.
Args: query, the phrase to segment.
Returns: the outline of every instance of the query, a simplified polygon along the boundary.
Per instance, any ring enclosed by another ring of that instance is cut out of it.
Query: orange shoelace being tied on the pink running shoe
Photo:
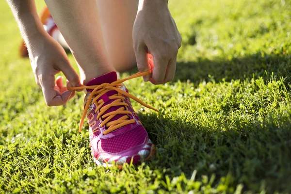
[[[80,120],[79,132],[81,132],[81,129],[82,129],[82,126],[84,123],[84,119],[85,119],[87,111],[89,109],[91,100],[92,100],[91,104],[92,105],[95,104],[95,106],[96,106],[95,113],[99,112],[97,115],[97,119],[99,119],[100,117],[101,117],[101,119],[107,117],[105,120],[102,120],[102,122],[100,124],[100,127],[103,127],[104,125],[106,125],[107,129],[103,132],[104,135],[112,132],[115,129],[118,129],[120,127],[123,127],[123,126],[130,124],[130,123],[135,122],[134,119],[129,119],[128,115],[124,115],[124,116],[118,118],[117,120],[110,121],[117,114],[132,114],[130,111],[127,111],[125,108],[125,107],[128,107],[129,105],[123,101],[126,99],[124,96],[129,97],[129,98],[137,101],[141,105],[158,112],[157,109],[147,105],[145,102],[138,99],[137,97],[134,97],[131,94],[127,93],[126,91],[119,89],[119,86],[121,86],[121,87],[123,86],[121,84],[122,82],[133,79],[133,78],[142,77],[142,76],[145,76],[145,75],[150,74],[150,73],[151,73],[150,70],[143,72],[143,73],[138,72],[132,76],[129,76],[128,78],[125,78],[122,80],[117,80],[117,81],[114,81],[112,83],[102,83],[101,85],[91,85],[91,86],[83,85],[80,87],[68,87],[67,88],[68,90],[93,89],[93,91],[91,92],[91,94],[89,95],[89,97],[87,99],[87,102],[86,102],[86,105],[84,108],[84,112],[83,112],[81,120]],[[114,101],[110,104],[103,106],[105,102],[103,101],[103,99],[98,100],[98,98],[100,98],[102,95],[106,94],[107,92],[113,91],[113,90],[115,90],[117,92],[117,94],[112,95],[108,98],[111,100],[114,99]],[[124,96],[122,96],[122,95],[124,95]],[[122,106],[122,107],[120,107],[116,111],[112,111],[110,113],[104,114],[108,109],[110,109],[110,107],[114,107],[114,106]],[[95,130],[95,131],[97,131],[97,130]]]

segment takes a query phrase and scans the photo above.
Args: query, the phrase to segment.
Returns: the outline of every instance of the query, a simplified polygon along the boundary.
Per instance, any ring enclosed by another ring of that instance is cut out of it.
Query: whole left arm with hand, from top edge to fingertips
[[[74,91],[66,90],[62,78],[55,83],[55,75],[63,72],[68,86],[80,86],[80,78],[70,65],[65,50],[44,30],[37,15],[34,0],[7,0],[27,45],[36,83],[41,87],[48,106],[64,105]]]

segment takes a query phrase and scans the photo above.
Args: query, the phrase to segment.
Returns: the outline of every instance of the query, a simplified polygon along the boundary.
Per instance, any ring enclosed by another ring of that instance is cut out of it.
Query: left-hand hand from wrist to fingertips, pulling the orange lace
[[[65,105],[75,95],[63,86],[62,78],[55,83],[55,75],[64,73],[68,87],[81,86],[80,77],[70,65],[65,50],[48,34],[30,41],[29,58],[35,81],[42,89],[48,106]]]

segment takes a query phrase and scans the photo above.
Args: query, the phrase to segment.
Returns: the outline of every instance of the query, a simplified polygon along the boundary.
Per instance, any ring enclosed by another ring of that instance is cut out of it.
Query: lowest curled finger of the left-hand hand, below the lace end
[[[42,92],[48,106],[64,105],[70,97],[72,91],[60,95],[60,92],[54,89],[54,75],[43,74],[40,76]]]

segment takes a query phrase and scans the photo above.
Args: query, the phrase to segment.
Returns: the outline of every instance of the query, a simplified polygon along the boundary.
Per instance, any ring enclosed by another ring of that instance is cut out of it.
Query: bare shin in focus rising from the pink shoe
[[[83,83],[114,70],[104,45],[96,1],[45,1],[79,65]]]

